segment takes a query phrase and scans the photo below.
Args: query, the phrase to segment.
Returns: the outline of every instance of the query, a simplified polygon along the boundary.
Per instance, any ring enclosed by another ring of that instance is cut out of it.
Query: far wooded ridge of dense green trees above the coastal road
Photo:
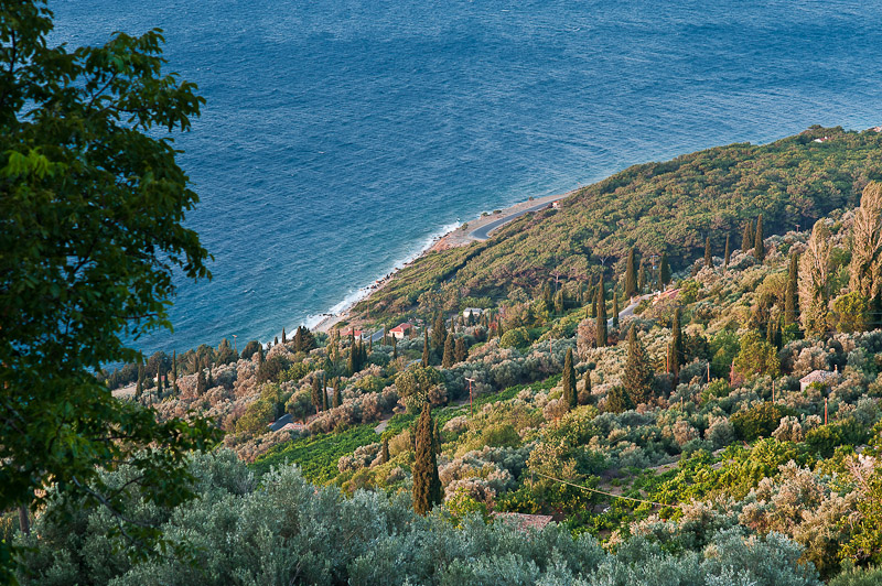
[[[635,165],[486,242],[421,257],[354,313],[391,321],[406,312],[455,310],[464,300],[517,295],[549,279],[596,279],[601,265],[622,274],[632,246],[645,259],[667,252],[682,268],[701,253],[706,236],[717,254],[727,236],[740,246],[743,223],[760,214],[766,234],[807,229],[833,209],[856,206],[867,182],[882,178],[880,146],[882,134],[874,131],[813,127],[771,144]]]

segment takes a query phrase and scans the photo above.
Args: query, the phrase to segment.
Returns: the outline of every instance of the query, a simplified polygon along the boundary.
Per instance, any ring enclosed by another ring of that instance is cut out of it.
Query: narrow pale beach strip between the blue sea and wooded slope
[[[501,209],[498,213],[488,213],[481,215],[467,223],[463,224],[455,230],[451,230],[443,236],[440,236],[438,239],[434,240],[430,246],[428,246],[422,252],[420,252],[413,260],[410,262],[405,263],[399,269],[391,271],[390,273],[386,274],[381,279],[377,279],[374,283],[366,286],[362,291],[364,295],[359,296],[356,301],[349,304],[348,307],[344,308],[337,314],[330,314],[322,317],[322,319],[313,326],[314,332],[330,332],[336,324],[348,319],[351,316],[351,308],[358,303],[359,301],[367,299],[370,296],[372,293],[383,289],[383,286],[388,283],[392,276],[395,276],[398,271],[405,269],[412,264],[417,259],[420,257],[428,254],[429,252],[435,252],[441,250],[448,250],[450,248],[456,247],[464,247],[469,246],[472,242],[486,240],[493,231],[502,228],[509,221],[514,221],[518,217],[523,216],[524,214],[528,214],[530,211],[536,211],[538,209],[551,206],[555,202],[559,202],[566,197],[569,197],[578,189],[573,189],[562,195],[548,195],[545,197],[535,197],[527,199],[526,202],[520,202],[513,206],[509,206],[505,209]]]

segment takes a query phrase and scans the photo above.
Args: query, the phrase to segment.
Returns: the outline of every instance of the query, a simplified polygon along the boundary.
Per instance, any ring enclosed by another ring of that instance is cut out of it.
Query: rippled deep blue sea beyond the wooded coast
[[[164,30],[211,282],[147,352],[270,340],[484,210],[814,123],[882,123],[882,3],[51,0],[54,42]]]

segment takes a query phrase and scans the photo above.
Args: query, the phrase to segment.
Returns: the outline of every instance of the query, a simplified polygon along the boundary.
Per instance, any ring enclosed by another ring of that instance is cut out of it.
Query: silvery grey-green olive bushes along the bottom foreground
[[[22,584],[819,584],[810,566],[797,564],[802,549],[774,533],[761,539],[730,529],[677,554],[637,538],[610,554],[592,536],[574,539],[555,523],[521,532],[473,516],[458,529],[443,511],[416,516],[404,495],[343,498],[309,485],[294,467],[258,485],[230,453],[194,457],[191,471],[201,499],[139,512],[162,525],[180,555],[132,565],[125,553],[137,544],[114,535],[110,516],[55,499],[31,538],[20,539],[40,540],[25,550]],[[126,475],[114,473],[110,482]]]

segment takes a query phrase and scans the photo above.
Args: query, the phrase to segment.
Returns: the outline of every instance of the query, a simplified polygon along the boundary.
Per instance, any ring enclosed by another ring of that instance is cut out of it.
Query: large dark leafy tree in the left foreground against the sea
[[[148,502],[178,503],[192,497],[184,454],[219,434],[158,422],[94,373],[138,361],[123,337],[171,325],[176,270],[209,276],[166,135],[204,100],[162,70],[158,30],[78,48],[51,45],[52,30],[44,1],[0,6],[0,510],[42,508],[53,485],[147,544],[155,527],[123,521],[125,491],[99,467],[135,466]],[[0,544],[0,580],[8,556]]]

